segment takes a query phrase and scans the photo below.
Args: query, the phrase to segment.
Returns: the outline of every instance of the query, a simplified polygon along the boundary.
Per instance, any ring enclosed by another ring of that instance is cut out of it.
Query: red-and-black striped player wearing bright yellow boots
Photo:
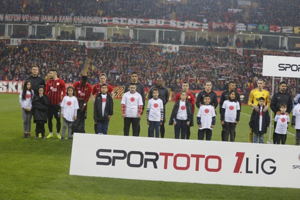
[[[46,83],[45,94],[49,96],[48,104],[48,128],[49,134],[46,138],[53,137],[52,131],[52,117],[54,115],[56,119],[56,134],[57,138],[60,139],[60,103],[65,96],[65,84],[64,81],[57,77],[58,70],[56,68],[51,68],[48,75],[50,79]]]

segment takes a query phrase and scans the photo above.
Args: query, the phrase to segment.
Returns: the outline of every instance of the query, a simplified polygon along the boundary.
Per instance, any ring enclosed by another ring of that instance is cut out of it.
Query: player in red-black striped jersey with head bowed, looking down
[[[87,76],[82,75],[81,80],[73,84],[75,88],[75,97],[78,100],[79,110],[77,111],[77,119],[72,127],[73,132],[85,133],[85,118],[87,116],[87,101],[91,92],[91,85],[87,82]]]

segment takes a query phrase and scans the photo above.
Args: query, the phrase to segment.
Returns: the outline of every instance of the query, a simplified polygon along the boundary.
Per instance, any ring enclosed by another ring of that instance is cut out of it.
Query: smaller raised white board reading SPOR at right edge
[[[300,57],[263,55],[262,75],[300,77]]]

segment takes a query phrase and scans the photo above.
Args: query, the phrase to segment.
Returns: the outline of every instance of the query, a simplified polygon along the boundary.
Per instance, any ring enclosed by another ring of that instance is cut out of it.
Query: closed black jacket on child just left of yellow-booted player
[[[48,119],[48,104],[49,97],[47,95],[34,95],[31,101],[32,104],[32,113],[33,113],[33,122],[43,121],[47,122]]]

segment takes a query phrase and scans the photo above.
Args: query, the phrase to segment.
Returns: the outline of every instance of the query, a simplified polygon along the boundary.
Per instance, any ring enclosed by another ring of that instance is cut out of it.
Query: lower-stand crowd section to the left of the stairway
[[[70,42],[34,42],[12,48],[0,42],[0,79],[24,80],[36,64],[41,77],[57,68],[61,79],[73,83],[80,79],[86,58],[85,46]]]

